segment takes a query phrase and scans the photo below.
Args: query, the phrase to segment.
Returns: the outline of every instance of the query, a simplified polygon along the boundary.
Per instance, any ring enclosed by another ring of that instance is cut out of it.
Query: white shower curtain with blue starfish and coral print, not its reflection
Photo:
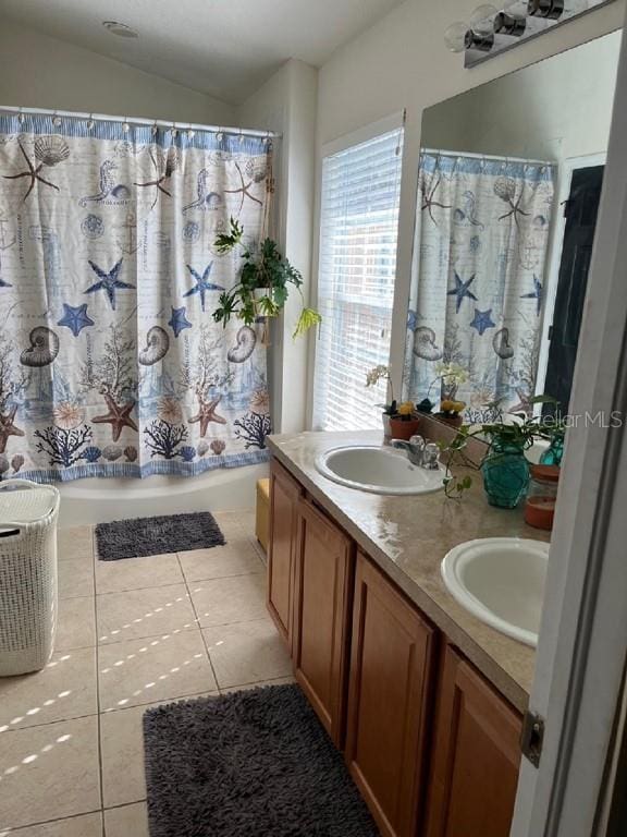
[[[197,474],[267,457],[266,349],[212,320],[254,246],[263,138],[0,119],[0,471]]]

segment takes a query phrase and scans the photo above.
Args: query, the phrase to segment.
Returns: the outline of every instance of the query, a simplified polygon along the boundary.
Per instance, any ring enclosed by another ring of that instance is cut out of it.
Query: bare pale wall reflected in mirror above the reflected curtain
[[[620,33],[429,108],[421,145],[562,161],[607,150]]]

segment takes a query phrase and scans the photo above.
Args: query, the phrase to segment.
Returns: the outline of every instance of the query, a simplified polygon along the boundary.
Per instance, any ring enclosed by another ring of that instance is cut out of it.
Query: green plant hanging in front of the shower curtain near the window
[[[251,326],[258,316],[274,317],[284,308],[290,295],[290,286],[293,286],[303,300],[293,337],[300,337],[308,329],[320,325],[320,314],[305,305],[303,276],[281,254],[276,242],[263,239],[258,252],[254,253],[242,243],[243,236],[244,228],[231,218],[230,231],[218,235],[214,242],[214,247],[221,255],[231,253],[237,246],[242,247],[244,259],[237,284],[220,294],[219,305],[213,312],[216,323],[226,326],[232,316],[237,316],[247,326]],[[255,293],[260,290],[265,291],[262,295]]]

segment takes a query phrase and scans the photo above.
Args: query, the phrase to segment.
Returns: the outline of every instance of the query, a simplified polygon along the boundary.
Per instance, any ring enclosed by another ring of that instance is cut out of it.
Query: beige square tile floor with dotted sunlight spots
[[[0,837],[147,837],[146,708],[292,680],[253,512],[216,518],[226,546],[107,563],[60,531],[54,655],[0,678]]]

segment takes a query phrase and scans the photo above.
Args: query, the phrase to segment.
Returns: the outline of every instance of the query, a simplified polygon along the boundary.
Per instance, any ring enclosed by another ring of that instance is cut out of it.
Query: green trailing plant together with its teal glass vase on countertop
[[[536,396],[530,404],[553,403],[551,396]],[[454,464],[469,465],[465,457],[468,440],[482,437],[488,441],[488,450],[479,464],[483,476],[483,487],[491,506],[514,509],[527,493],[530,466],[525,457],[537,438],[550,439],[555,432],[555,420],[529,417],[524,413],[513,413],[511,422],[492,422],[481,425],[462,425],[453,440],[440,445],[446,456],[444,489],[447,497],[459,498],[468,489],[472,480],[467,474],[456,480],[452,473]]]

